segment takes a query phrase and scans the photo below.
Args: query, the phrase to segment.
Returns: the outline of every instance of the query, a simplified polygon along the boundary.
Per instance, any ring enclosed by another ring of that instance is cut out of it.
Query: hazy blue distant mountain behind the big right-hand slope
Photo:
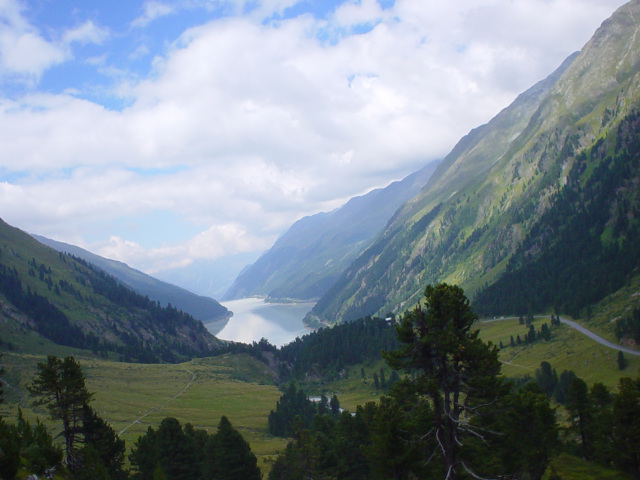
[[[271,249],[238,275],[225,299],[320,298],[384,228],[396,209],[419,192],[436,165],[431,162],[401,181],[354,197],[333,212],[298,220]]]

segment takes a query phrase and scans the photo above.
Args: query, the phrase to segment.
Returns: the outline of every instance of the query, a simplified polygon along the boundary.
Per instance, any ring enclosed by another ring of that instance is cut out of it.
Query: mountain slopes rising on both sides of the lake
[[[318,299],[305,319],[317,326],[402,313],[439,282],[462,286],[483,315],[574,317],[638,284],[636,19],[640,0],[441,162],[296,222],[226,298]],[[155,360],[220,345],[197,320],[228,319],[212,299],[48,241],[54,251],[3,222],[0,241],[10,337],[31,329],[65,342],[69,328],[78,346]],[[625,291],[628,309],[640,304]],[[55,328],[39,323],[43,312]]]

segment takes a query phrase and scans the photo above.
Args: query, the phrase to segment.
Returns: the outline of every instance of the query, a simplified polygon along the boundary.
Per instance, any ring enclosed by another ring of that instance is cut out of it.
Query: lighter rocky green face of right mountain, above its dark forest
[[[399,312],[428,283],[474,295],[500,279],[555,205],[576,158],[638,108],[638,21],[640,2],[621,7],[579,54],[463,138],[308,320]],[[585,161],[595,171],[602,157]]]

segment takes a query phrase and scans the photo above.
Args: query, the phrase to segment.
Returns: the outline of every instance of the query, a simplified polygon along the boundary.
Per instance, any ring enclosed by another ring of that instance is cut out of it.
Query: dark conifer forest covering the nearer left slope
[[[2,253],[0,252],[0,260]],[[48,297],[25,287],[20,273],[15,267],[0,263],[0,294],[4,295],[16,308],[24,312],[33,322],[33,328],[43,337],[58,345],[91,350],[103,357],[115,354],[121,361],[127,362],[179,362],[188,358],[211,355],[212,348],[199,340],[209,335],[204,325],[190,315],[168,305],[162,307],[158,302],[149,300],[119,283],[114,277],[92,264],[70,255],[59,254],[65,264],[76,272],[76,281],[84,292],[63,279],[55,279],[51,267],[39,263],[35,258],[28,261],[28,275],[41,282]],[[98,335],[91,328],[81,328],[54,304],[52,299],[63,302],[71,297],[74,301],[96,308],[107,299],[112,307],[123,309],[130,314],[127,325],[117,319],[117,312],[107,317],[105,322],[113,329],[116,338],[109,340]],[[184,328],[190,332],[190,342],[177,341],[178,330]],[[154,342],[143,341],[143,330],[156,332],[163,337]]]

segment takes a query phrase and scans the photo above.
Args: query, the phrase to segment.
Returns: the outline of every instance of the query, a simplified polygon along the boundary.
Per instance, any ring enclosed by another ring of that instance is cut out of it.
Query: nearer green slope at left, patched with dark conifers
[[[46,339],[140,362],[177,362],[222,346],[191,315],[135,293],[101,268],[2,220],[0,337],[31,353]]]

